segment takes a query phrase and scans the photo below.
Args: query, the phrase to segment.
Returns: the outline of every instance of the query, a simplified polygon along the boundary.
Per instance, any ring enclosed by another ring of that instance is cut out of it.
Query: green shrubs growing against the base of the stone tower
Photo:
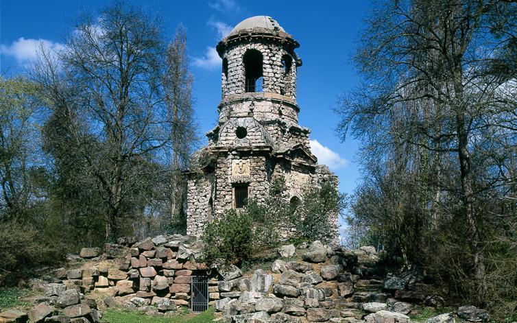
[[[302,196],[301,205],[290,205],[285,180],[276,178],[263,204],[249,200],[242,210],[226,211],[221,219],[206,226],[205,261],[250,263],[254,256],[278,246],[285,237],[291,241],[332,240],[336,228],[328,218],[341,211],[344,196],[330,182],[308,187]]]

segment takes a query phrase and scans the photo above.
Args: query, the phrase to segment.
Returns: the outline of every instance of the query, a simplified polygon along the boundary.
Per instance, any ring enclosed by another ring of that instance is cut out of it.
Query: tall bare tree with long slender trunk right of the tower
[[[431,174],[440,175],[420,184],[457,192],[479,302],[485,300],[487,286],[483,213],[476,204],[478,169],[474,169],[480,156],[475,147],[490,140],[484,140],[490,135],[488,129],[508,135],[504,125],[494,121],[514,117],[508,113],[514,107],[507,104],[502,88],[513,86],[510,92],[514,93],[515,86],[488,73],[491,53],[501,45],[490,34],[490,16],[497,5],[512,5],[502,2],[379,1],[355,56],[365,82],[343,98],[339,110],[342,138],[350,130],[353,136],[366,139],[365,163],[396,151],[413,151],[405,154],[408,165],[424,166],[429,165],[426,160],[433,160]],[[512,153],[505,150],[503,154]],[[483,184],[508,185],[508,173],[503,173],[492,173],[495,182]],[[434,200],[440,202],[440,195]]]

